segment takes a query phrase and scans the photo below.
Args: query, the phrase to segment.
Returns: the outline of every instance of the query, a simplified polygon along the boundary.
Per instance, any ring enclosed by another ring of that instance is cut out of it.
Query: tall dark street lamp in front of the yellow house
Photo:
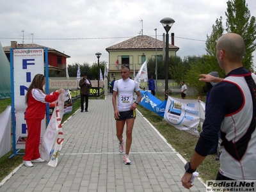
[[[173,23],[175,20],[173,20],[170,17],[165,17],[164,19],[160,20],[161,24],[163,25],[165,31],[166,31],[166,48],[165,48],[165,100],[168,99],[168,75],[169,75],[169,34],[168,31],[172,28]]]

